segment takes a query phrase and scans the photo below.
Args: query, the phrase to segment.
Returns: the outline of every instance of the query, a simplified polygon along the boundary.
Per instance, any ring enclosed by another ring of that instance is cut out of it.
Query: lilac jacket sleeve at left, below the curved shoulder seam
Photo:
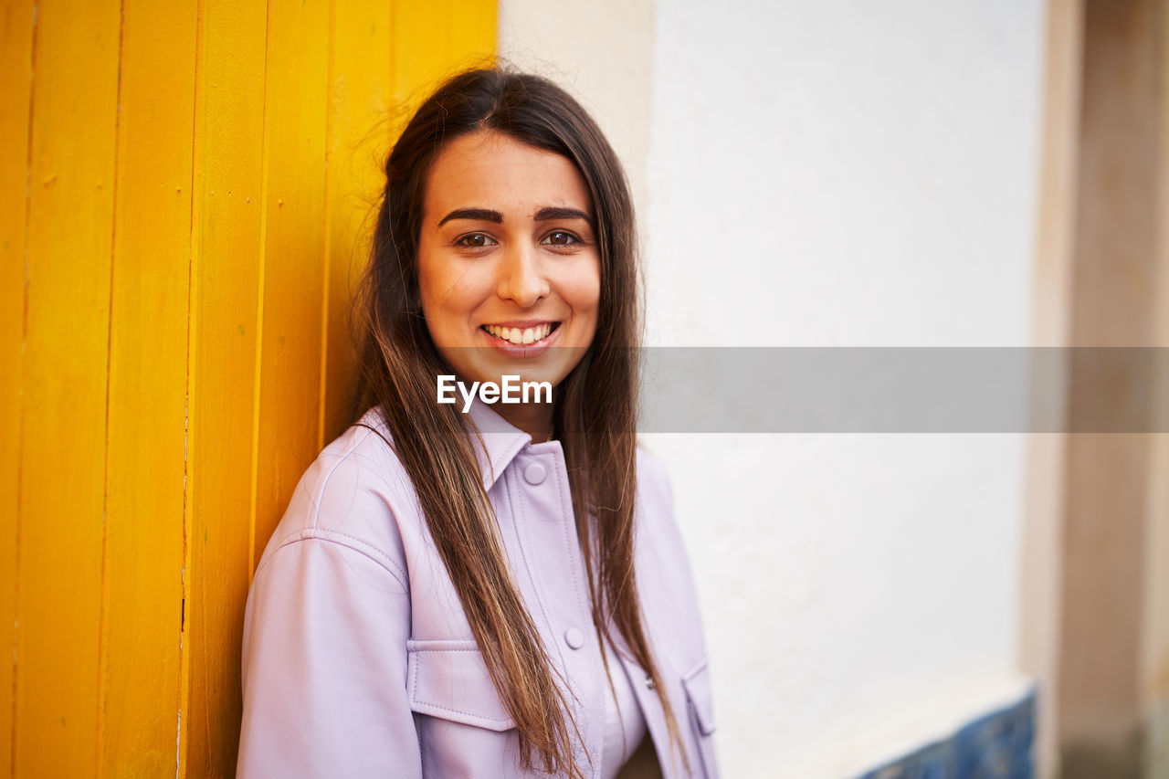
[[[404,575],[304,530],[261,564],[243,627],[238,775],[421,777]]]

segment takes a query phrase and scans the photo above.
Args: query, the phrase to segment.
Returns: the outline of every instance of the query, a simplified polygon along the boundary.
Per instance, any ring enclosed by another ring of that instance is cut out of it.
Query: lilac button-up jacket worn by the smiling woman
[[[471,414],[516,582],[576,696],[577,763],[600,775],[608,685],[562,449],[533,444],[478,401]],[[389,437],[375,412],[362,422]],[[677,751],[671,760],[658,697],[621,643],[613,673],[632,683],[663,777],[710,779],[714,721],[690,566],[665,473],[642,450],[637,478],[638,586],[689,772]],[[256,568],[238,775],[528,775],[517,743],[409,477],[376,433],[350,428],[305,473]]]

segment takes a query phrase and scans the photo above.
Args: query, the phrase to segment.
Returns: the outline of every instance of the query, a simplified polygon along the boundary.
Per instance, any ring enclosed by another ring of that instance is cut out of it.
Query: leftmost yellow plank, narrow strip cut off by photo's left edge
[[[0,16],[0,773],[12,766],[33,0]]]

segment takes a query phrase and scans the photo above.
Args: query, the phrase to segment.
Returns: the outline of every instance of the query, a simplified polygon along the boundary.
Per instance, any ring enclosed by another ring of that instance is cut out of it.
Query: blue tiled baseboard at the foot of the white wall
[[[1035,690],[953,736],[857,779],[1031,779]]]

